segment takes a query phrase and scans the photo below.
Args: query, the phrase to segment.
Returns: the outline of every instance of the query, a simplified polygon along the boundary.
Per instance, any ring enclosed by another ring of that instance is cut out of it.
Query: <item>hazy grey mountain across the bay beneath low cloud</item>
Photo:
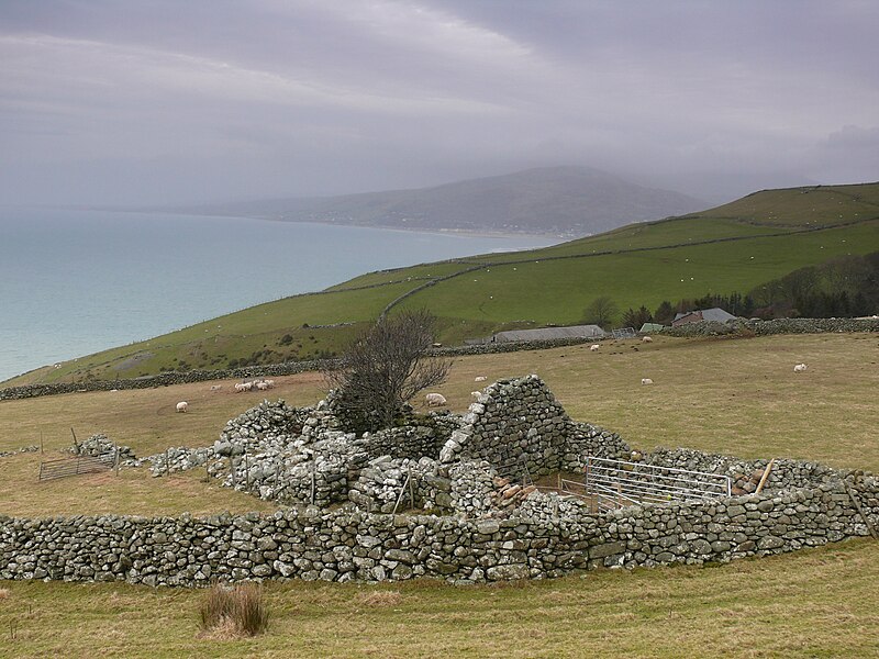
[[[291,222],[582,236],[706,205],[686,194],[644,188],[599,169],[545,167],[434,188],[185,210]]]

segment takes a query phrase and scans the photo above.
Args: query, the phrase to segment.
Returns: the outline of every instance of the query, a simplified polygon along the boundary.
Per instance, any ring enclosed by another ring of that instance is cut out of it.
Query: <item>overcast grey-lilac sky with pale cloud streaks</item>
[[[879,180],[874,0],[0,0],[0,202]]]

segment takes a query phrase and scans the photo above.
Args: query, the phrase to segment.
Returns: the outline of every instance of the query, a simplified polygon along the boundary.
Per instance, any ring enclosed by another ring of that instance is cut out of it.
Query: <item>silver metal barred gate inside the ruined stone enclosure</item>
[[[586,492],[598,510],[641,503],[704,501],[731,495],[728,476],[588,457],[583,469]]]

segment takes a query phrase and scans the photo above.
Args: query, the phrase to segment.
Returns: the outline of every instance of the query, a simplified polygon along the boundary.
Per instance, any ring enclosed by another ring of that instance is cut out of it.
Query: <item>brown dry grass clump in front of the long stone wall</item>
[[[263,588],[255,583],[214,585],[202,597],[199,614],[202,635],[211,638],[256,636],[268,628]]]

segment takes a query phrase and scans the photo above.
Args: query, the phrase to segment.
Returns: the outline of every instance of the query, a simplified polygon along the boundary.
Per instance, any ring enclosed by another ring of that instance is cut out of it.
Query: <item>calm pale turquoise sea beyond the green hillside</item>
[[[0,380],[370,270],[550,243],[236,217],[0,209]]]

